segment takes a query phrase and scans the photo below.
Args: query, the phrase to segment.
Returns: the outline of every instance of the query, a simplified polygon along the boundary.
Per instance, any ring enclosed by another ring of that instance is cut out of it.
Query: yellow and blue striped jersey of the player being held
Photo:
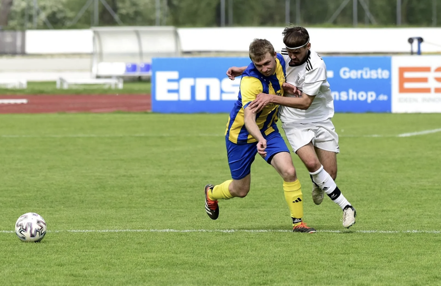
[[[225,136],[231,142],[237,144],[257,142],[245,128],[243,110],[261,92],[283,96],[282,84],[285,82],[285,73],[285,60],[280,54],[276,57],[276,72],[269,77],[265,77],[257,70],[254,63],[250,63],[242,74],[239,96],[230,113],[225,130]],[[279,106],[271,103],[256,114],[256,123],[264,137],[271,132],[278,132],[276,125],[278,110]]]

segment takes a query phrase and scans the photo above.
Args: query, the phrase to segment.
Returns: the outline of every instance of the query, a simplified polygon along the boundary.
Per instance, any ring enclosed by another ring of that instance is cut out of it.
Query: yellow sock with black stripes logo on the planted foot
[[[299,180],[294,182],[283,182],[285,199],[291,211],[292,226],[295,227],[302,223],[303,218],[303,194]]]

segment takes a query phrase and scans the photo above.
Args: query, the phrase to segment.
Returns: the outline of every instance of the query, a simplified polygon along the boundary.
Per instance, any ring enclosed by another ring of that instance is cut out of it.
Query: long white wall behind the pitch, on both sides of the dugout
[[[423,53],[441,53],[441,28],[307,28],[312,49],[319,53],[408,53],[409,37],[422,37]],[[254,38],[283,47],[283,27],[179,28],[183,52],[247,52]],[[27,54],[91,54],[93,32],[27,30]]]

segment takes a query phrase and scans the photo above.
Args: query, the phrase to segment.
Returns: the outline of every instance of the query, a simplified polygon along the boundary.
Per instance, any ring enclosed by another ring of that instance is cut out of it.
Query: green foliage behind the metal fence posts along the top
[[[47,28],[44,15],[55,28],[84,28],[93,23],[93,4],[74,26],[68,26],[86,0],[37,0],[42,11],[38,17],[38,28]],[[160,0],[161,25],[179,27],[220,26],[221,0]],[[352,1],[329,23],[329,19],[343,3],[343,0],[299,0],[300,19],[296,19],[296,0],[291,0],[290,22],[303,26],[334,25],[352,26]],[[396,0],[364,0],[369,6],[378,26],[396,25]],[[26,2],[32,18],[32,1],[14,0],[9,22],[10,29],[22,29],[25,23]],[[155,25],[156,0],[107,0],[116,10],[124,25]],[[228,25],[229,4],[232,2],[233,26],[284,26],[285,0],[225,0],[225,19]],[[435,9],[433,4],[435,3]],[[116,25],[109,12],[99,4],[99,24]],[[437,16],[437,26],[441,26],[441,0],[402,0],[402,24],[411,26],[432,26],[433,15]],[[31,20],[29,22],[32,22]],[[366,15],[362,4],[358,4],[359,26],[364,26]],[[371,23],[372,24],[372,23]]]

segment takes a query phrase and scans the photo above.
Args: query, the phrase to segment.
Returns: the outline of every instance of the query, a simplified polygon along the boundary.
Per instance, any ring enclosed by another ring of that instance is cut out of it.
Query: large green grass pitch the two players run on
[[[357,209],[314,205],[292,233],[282,180],[256,158],[246,198],[206,215],[230,178],[226,114],[0,115],[2,285],[441,285],[441,114],[336,114],[336,180]],[[372,137],[372,135],[377,135]],[[43,216],[40,243],[15,220]]]

